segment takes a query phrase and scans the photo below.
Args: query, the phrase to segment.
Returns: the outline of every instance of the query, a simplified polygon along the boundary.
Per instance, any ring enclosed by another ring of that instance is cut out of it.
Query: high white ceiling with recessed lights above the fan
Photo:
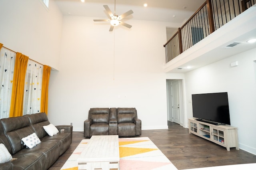
[[[115,0],[54,0],[64,16],[106,18],[103,5],[114,11]],[[200,8],[205,0],[116,0],[116,14],[133,10],[130,19],[178,23],[180,26]],[[143,4],[148,6],[144,7]],[[175,16],[175,17],[174,17]]]

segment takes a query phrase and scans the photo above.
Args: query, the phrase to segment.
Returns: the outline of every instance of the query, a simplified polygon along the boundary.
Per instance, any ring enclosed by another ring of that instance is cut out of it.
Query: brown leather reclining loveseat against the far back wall
[[[141,135],[141,120],[135,108],[91,108],[84,121],[84,137],[115,135],[120,137]]]

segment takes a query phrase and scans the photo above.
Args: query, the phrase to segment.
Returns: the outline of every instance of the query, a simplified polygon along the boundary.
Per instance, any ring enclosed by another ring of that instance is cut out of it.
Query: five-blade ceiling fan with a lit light
[[[120,15],[120,16],[116,15],[116,0],[115,0],[115,6],[114,6],[114,14],[111,12],[111,10],[108,8],[107,5],[103,5],[103,7],[105,8],[106,12],[108,12],[108,15],[109,15],[110,19],[106,19],[106,20],[93,20],[94,22],[98,22],[98,21],[110,22],[110,29],[109,29],[109,31],[113,31],[114,27],[118,26],[119,24],[122,25],[122,26],[125,26],[127,28],[132,28],[131,25],[126,24],[125,22],[121,21],[126,16],[129,16],[130,14],[133,14],[132,10],[129,10],[129,11],[125,12],[124,14]]]

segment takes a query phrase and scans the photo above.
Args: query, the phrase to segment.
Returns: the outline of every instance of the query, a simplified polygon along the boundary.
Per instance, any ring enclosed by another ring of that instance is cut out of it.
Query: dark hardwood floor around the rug
[[[189,134],[188,128],[176,123],[169,122],[168,129],[142,130],[139,137],[149,137],[179,170],[256,163],[256,155],[236,148],[227,151],[218,144]],[[82,139],[83,132],[73,132],[72,144],[49,170],[59,170]]]

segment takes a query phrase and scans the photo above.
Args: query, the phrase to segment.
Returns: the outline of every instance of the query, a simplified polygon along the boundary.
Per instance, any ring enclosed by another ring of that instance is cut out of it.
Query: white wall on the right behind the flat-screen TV
[[[192,94],[228,92],[230,122],[238,127],[239,147],[253,154],[256,154],[255,53],[256,49],[252,49],[185,74],[188,118],[192,117],[192,103],[188,102]],[[233,61],[238,61],[237,67],[230,67]]]

